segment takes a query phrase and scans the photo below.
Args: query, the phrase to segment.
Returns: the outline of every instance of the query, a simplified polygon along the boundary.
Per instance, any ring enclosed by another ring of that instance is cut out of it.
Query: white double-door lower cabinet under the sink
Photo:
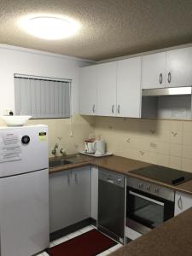
[[[90,166],[49,175],[50,233],[90,218]]]

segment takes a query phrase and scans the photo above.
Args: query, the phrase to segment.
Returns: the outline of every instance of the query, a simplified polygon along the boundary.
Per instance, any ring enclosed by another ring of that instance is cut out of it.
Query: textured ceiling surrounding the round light
[[[31,14],[67,15],[82,27],[45,41],[17,25]],[[192,0],[0,0],[0,43],[96,61],[192,43]]]

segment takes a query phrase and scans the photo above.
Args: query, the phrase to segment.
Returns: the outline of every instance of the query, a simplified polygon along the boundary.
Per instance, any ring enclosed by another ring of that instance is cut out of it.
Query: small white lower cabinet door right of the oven
[[[192,207],[192,195],[184,194],[182,192],[176,192],[174,216],[181,212],[184,212],[190,207]]]

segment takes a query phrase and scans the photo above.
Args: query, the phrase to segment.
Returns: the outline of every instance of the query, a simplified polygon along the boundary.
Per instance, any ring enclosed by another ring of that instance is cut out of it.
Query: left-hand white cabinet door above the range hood
[[[143,89],[165,87],[166,53],[143,56]]]

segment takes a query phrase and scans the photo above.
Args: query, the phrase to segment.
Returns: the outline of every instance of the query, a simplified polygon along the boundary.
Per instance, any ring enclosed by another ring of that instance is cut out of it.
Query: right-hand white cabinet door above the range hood
[[[166,87],[192,86],[192,47],[166,52]]]

